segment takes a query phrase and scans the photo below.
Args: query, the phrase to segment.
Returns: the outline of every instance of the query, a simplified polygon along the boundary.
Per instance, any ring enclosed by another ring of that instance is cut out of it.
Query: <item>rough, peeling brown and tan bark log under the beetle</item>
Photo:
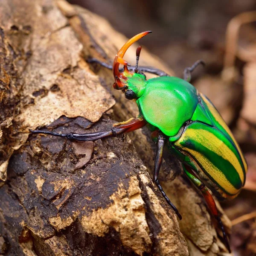
[[[3,255],[226,251],[204,200],[170,157],[160,177],[183,220],[166,205],[148,174],[155,146],[146,129],[95,143],[29,135],[29,128],[45,126],[65,133],[107,130],[113,119],[136,116],[136,105],[111,90],[111,71],[85,61],[111,63],[125,41],[106,20],[62,0],[0,2]],[[134,61],[135,49],[127,61]],[[173,74],[145,49],[140,64]],[[221,218],[228,229],[230,221]]]

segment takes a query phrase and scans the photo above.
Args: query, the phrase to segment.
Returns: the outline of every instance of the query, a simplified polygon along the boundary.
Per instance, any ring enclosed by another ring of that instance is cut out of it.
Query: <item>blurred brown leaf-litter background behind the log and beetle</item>
[[[143,45],[176,76],[198,59],[206,62],[193,73],[192,84],[221,112],[249,166],[244,190],[222,204],[233,221],[231,247],[234,255],[256,255],[256,1],[69,2],[105,17],[128,38],[152,30]]]

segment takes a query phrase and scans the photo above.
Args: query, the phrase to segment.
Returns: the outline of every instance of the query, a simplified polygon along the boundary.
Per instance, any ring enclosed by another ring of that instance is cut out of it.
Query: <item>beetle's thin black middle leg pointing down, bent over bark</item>
[[[158,141],[157,141],[157,152],[156,152],[156,157],[155,157],[155,162],[154,162],[154,183],[157,185],[158,189],[162,193],[166,202],[172,207],[172,209],[175,211],[175,213],[177,214],[177,216],[181,220],[182,216],[180,215],[180,213],[177,210],[177,208],[175,207],[175,205],[172,204],[170,199],[167,197],[166,193],[163,191],[163,188],[160,185],[159,180],[158,180],[158,174],[159,174],[160,167],[161,167],[162,160],[163,160],[164,141],[165,141],[165,137],[163,136],[162,133],[159,132]]]

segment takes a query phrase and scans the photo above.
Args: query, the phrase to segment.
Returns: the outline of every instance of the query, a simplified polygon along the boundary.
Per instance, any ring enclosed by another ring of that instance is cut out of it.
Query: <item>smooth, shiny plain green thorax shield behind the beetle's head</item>
[[[137,104],[145,120],[166,136],[175,136],[198,105],[195,87],[177,77],[149,79]]]

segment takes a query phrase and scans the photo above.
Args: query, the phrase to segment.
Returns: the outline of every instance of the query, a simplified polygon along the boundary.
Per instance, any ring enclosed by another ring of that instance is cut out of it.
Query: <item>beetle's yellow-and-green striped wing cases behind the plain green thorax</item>
[[[189,156],[199,176],[204,179],[207,176],[215,195],[233,198],[244,185],[247,166],[239,145],[218,111],[204,95],[200,96],[199,104],[214,125],[192,122],[173,146]]]

